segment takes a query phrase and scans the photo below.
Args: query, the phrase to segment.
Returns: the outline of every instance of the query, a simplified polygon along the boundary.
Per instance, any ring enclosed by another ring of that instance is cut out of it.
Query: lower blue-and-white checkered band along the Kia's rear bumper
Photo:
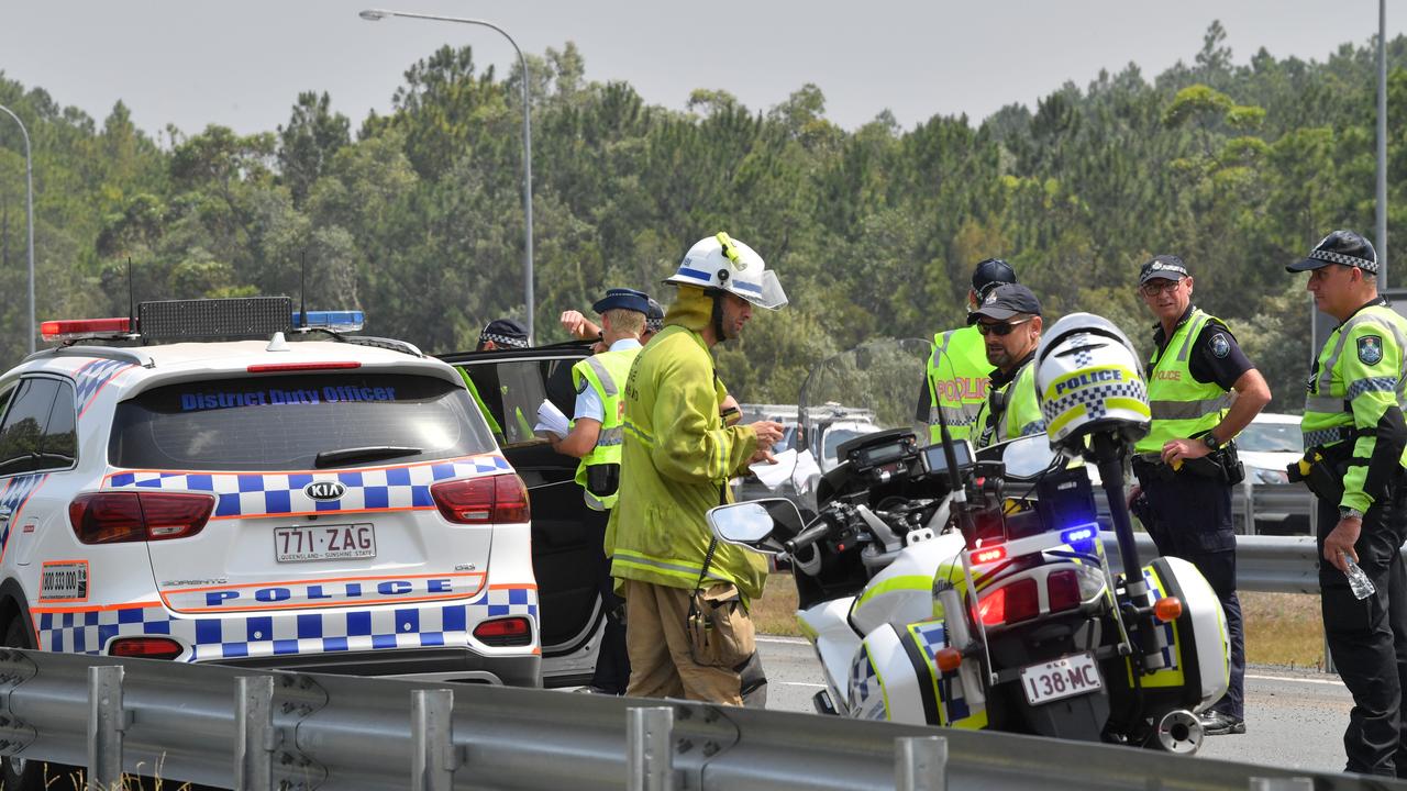
[[[103,653],[117,636],[162,635],[193,650],[187,662],[384,649],[466,646],[478,622],[504,615],[537,618],[537,591],[495,587],[453,605],[180,618],[160,605],[84,612],[39,612],[41,647]]]

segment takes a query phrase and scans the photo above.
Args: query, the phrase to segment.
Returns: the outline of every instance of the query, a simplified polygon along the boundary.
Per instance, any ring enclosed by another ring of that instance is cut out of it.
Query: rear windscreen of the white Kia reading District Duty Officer
[[[315,470],[497,450],[463,384],[294,374],[170,384],[117,407],[108,460],[162,470]]]

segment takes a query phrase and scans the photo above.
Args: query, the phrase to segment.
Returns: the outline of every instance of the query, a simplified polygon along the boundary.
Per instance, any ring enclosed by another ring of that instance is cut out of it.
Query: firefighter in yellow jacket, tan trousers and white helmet
[[[732,500],[729,479],[771,456],[782,426],[723,422],[711,349],[739,338],[754,305],[781,308],[787,294],[727,234],[696,242],[666,283],[678,293],[664,329],[626,380],[620,498],[608,528],[630,624],[628,694],[740,705],[765,683],[753,671],[749,602],[767,563],[715,540],[705,512]]]

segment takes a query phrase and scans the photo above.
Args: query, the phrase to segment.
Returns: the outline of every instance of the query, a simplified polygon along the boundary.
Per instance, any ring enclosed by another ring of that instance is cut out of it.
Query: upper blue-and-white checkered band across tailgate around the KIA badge
[[[507,473],[502,456],[470,456],[426,464],[328,473],[180,473],[141,470],[108,476],[107,488],[160,488],[215,494],[215,519],[283,514],[432,508],[431,484],[442,480]],[[346,494],[321,501],[303,488],[314,481],[340,481]]]

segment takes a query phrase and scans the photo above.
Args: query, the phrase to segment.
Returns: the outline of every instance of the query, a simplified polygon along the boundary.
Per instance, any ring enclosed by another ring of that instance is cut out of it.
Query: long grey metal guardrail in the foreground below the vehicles
[[[1370,791],[1349,774],[687,701],[0,649],[0,753],[250,791]]]

